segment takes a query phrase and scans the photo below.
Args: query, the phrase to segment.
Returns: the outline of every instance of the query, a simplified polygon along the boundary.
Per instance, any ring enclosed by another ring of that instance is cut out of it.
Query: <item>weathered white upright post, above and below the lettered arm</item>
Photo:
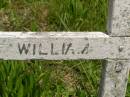
[[[111,37],[130,36],[130,0],[109,0],[108,33]],[[124,45],[117,49],[119,56]],[[99,97],[125,97],[129,60],[108,59],[103,65]]]

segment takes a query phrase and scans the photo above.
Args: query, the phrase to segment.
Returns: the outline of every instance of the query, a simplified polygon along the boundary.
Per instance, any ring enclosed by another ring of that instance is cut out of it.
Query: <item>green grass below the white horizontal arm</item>
[[[85,60],[1,61],[0,96],[96,97],[100,63]]]

